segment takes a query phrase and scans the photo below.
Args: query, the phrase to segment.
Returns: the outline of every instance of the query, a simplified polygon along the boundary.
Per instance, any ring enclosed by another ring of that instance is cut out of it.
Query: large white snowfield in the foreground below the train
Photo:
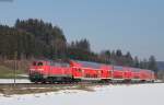
[[[164,105],[164,84],[96,86],[95,92],[60,92],[0,95],[0,105]]]

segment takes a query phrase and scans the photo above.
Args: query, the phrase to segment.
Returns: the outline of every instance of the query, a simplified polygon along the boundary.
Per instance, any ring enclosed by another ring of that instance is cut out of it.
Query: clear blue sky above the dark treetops
[[[68,42],[87,38],[92,50],[164,60],[164,0],[0,0],[0,23],[42,19],[60,26]]]

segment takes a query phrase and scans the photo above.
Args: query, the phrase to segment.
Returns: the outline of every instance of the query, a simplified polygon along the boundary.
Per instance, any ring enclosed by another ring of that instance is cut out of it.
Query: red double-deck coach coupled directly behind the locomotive
[[[80,80],[109,80],[112,66],[90,61],[72,61],[72,75]]]

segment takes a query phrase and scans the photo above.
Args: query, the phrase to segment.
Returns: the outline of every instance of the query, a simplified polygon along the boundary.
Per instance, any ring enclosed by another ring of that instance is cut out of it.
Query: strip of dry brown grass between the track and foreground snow
[[[0,93],[4,96],[10,96],[13,94],[35,94],[35,93],[46,93],[46,92],[57,92],[61,90],[82,90],[82,91],[89,91],[93,92],[94,90],[91,89],[91,86],[86,86],[83,84],[72,85],[72,86],[48,86],[48,85],[37,85],[36,86],[13,86],[13,85],[3,85],[0,86]]]

